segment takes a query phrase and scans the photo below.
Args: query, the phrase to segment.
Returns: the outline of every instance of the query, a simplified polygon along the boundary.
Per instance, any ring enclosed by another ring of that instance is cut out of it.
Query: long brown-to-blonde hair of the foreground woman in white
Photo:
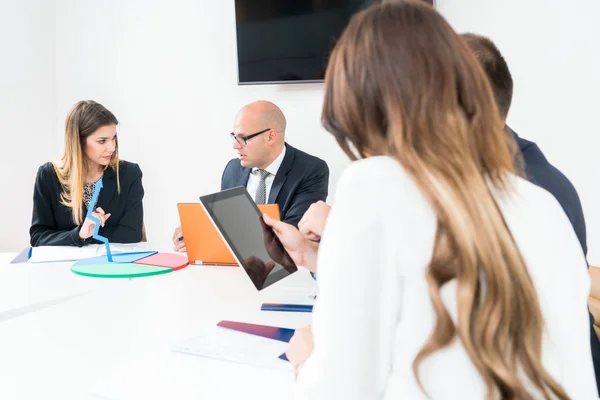
[[[413,363],[417,380],[420,363],[458,336],[488,398],[567,399],[542,365],[537,294],[492,195],[510,190],[514,141],[448,23],[412,1],[355,15],[330,58],[322,120],[351,159],[352,147],[397,159],[437,215],[426,275],[437,318]],[[440,296],[454,279],[456,323]]]

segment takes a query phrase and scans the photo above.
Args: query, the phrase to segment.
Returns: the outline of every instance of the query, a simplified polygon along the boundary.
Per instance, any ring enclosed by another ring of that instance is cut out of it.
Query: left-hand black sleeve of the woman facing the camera
[[[52,208],[52,196],[56,195],[52,189],[51,167],[43,165],[38,169],[33,189],[33,213],[31,227],[29,228],[30,243],[37,246],[83,246],[87,241],[79,237],[79,226],[68,230],[56,229],[56,218]]]

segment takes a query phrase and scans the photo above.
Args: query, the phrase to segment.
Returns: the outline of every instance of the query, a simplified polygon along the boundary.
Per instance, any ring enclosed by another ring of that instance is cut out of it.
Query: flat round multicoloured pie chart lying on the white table
[[[144,251],[113,254],[113,262],[105,255],[86,258],[75,262],[71,271],[94,278],[141,278],[168,274],[187,265],[187,258],[178,254]]]

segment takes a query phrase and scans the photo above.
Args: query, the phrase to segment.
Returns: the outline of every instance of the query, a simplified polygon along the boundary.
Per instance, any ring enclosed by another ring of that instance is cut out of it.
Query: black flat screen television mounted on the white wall
[[[322,81],[335,41],[372,2],[235,0],[238,83]]]

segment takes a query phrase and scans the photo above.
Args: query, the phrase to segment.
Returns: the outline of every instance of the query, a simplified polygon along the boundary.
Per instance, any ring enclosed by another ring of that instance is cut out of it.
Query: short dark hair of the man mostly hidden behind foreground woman
[[[512,76],[510,75],[506,60],[490,39],[473,33],[463,33],[460,36],[467,42],[471,50],[473,50],[477,61],[479,61],[479,64],[488,76],[498,109],[500,110],[500,115],[506,119],[512,101],[513,90]]]

